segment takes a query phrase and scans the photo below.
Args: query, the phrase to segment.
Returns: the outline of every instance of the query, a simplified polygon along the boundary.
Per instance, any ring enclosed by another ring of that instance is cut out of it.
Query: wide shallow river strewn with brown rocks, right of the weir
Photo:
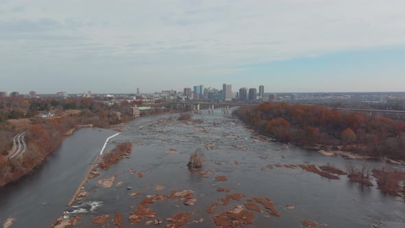
[[[360,187],[344,175],[349,165],[378,162],[279,144],[219,110],[189,121],[140,118],[120,130],[106,150],[128,142],[132,152],[84,185],[86,194],[65,212],[66,220],[80,215],[75,227],[405,225],[404,198]],[[189,155],[197,148],[205,162],[190,172]],[[404,170],[399,164],[385,168]]]

